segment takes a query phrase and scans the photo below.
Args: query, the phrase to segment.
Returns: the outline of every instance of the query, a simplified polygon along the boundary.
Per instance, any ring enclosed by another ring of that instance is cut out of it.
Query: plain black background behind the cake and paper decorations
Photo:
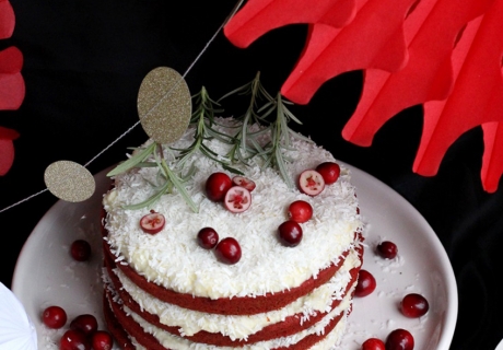
[[[52,162],[86,164],[133,126],[144,75],[160,66],[185,74],[234,1],[175,5],[166,0],[11,0],[11,4],[15,30],[11,38],[0,40],[0,49],[16,46],[23,52],[26,95],[17,110],[0,110],[0,126],[21,135],[14,141],[14,164],[0,177],[0,210],[45,189],[43,174]],[[305,25],[291,25],[239,49],[219,33],[187,73],[187,84],[192,94],[204,85],[218,98],[260,71],[266,89],[277,92],[297,60],[305,35]],[[503,338],[503,188],[495,194],[482,189],[481,129],[466,132],[449,148],[436,176],[413,174],[421,106],[391,118],[370,148],[342,139],[361,89],[359,71],[329,80],[308,105],[292,108],[303,121],[297,129],[339,160],[390,186],[426,219],[457,280],[459,311],[452,349],[493,350]],[[121,161],[128,147],[145,138],[140,126],[133,128],[87,168],[95,174]],[[0,213],[3,284],[10,287],[25,240],[56,201],[45,191]]]

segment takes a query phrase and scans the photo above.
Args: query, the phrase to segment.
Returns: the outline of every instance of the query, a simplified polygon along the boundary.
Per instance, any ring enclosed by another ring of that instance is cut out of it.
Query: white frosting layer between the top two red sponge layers
[[[200,330],[221,332],[231,339],[246,339],[264,327],[284,320],[288,316],[302,314],[299,323],[309,319],[318,312],[325,313],[331,310],[334,300],[342,300],[348,283],[351,280],[349,271],[361,265],[355,252],[346,259],[340,270],[329,282],[318,287],[312,293],[300,298],[293,303],[277,311],[246,316],[225,316],[190,311],[169,303],[160,301],[147,294],[129,280],[120,269],[115,269],[122,288],[147,312],[157,315],[160,322],[167,326],[178,327],[183,335],[192,336]]]

